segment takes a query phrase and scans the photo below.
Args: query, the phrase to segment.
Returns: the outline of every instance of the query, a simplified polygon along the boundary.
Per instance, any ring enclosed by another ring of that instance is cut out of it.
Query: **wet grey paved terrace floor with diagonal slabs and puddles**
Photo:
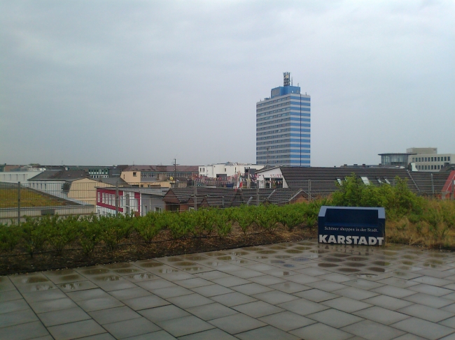
[[[0,339],[455,339],[455,254],[316,240],[0,276]]]

